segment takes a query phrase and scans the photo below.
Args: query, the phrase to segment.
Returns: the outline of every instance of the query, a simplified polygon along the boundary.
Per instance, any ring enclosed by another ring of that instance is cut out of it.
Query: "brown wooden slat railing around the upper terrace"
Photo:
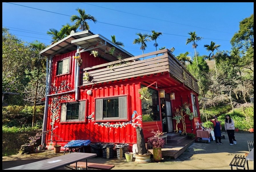
[[[86,72],[90,75],[89,81],[83,80]],[[163,78],[172,78],[185,87],[199,92],[197,80],[168,49],[81,69],[80,86],[127,81],[152,74],[162,74]],[[170,87],[170,84],[167,86]]]

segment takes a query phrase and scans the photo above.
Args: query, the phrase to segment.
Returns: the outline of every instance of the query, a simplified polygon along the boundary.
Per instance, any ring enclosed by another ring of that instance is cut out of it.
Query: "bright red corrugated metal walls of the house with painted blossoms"
[[[74,90],[74,70],[75,70],[75,52],[70,52],[67,54],[63,54],[61,56],[55,56],[53,58],[53,68],[52,68],[52,75],[51,75],[51,94],[56,94],[60,92],[66,92],[70,90]],[[82,65],[80,69],[89,66],[95,66],[99,64],[106,63],[106,60],[103,60],[99,57],[94,57],[93,55],[89,55],[89,52],[81,53],[81,57],[83,59]],[[64,58],[71,57],[71,65],[70,65],[70,73],[63,74],[56,76],[57,70],[57,61],[62,60]],[[121,95],[128,95],[127,101],[127,113],[128,119],[127,120],[113,120],[109,121],[110,124],[122,124],[127,123],[131,120],[131,116],[133,111],[137,111],[135,117],[141,116],[141,100],[139,99],[140,95],[138,90],[140,88],[140,81],[135,80],[136,83],[131,84],[124,84],[124,83],[112,83],[108,85],[96,85],[91,88],[92,94],[87,95],[87,90],[83,87],[79,87],[79,100],[86,100],[86,109],[85,109],[85,121],[84,122],[60,122],[60,114],[61,114],[61,103],[64,102],[72,102],[75,101],[75,92],[71,92],[69,94],[61,94],[56,96],[49,96],[49,106],[48,106],[48,116],[47,116],[47,130],[52,129],[53,127],[58,126],[54,131],[56,135],[59,135],[60,138],[55,138],[58,140],[58,144],[65,145],[70,140],[76,139],[83,139],[87,140],[90,139],[92,142],[105,142],[105,143],[129,143],[131,146],[132,144],[136,143],[136,129],[135,126],[131,124],[127,124],[122,127],[105,127],[96,124],[90,117],[95,119],[95,99],[103,98],[103,97],[111,97],[111,96],[121,96]],[[172,110],[173,116],[175,115],[175,108],[180,108],[184,102],[188,102],[191,104],[191,92],[182,92],[182,93],[175,93],[175,100],[172,100]],[[192,107],[191,107],[192,109]],[[200,116],[200,115],[199,115]],[[195,125],[193,124],[194,121],[198,119],[192,120],[192,127]],[[173,120],[175,121],[175,120]],[[189,124],[191,122],[189,117],[185,118],[186,123]],[[148,138],[153,135],[151,133],[152,129],[155,131],[159,129],[161,130],[161,119],[157,122],[142,122],[142,119],[135,120],[135,123],[140,124],[143,127],[144,137]],[[200,120],[199,120],[200,122]],[[103,121],[102,123],[106,123]],[[175,129],[175,122],[173,124]],[[178,125],[178,128],[183,128],[182,124]],[[191,133],[191,128],[187,128],[187,132]],[[195,133],[195,131],[193,131]],[[46,137],[47,143],[50,143],[52,140],[51,135],[48,134]],[[147,140],[146,140],[147,141]]]

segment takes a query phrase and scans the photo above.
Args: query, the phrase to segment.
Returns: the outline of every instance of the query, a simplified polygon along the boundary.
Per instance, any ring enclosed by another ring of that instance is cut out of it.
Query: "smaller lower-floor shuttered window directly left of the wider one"
[[[61,122],[85,121],[85,101],[61,104]]]

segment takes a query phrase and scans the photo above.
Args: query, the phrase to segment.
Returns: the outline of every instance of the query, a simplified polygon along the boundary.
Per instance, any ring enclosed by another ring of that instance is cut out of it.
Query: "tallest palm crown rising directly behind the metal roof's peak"
[[[72,15],[70,17],[70,21],[71,22],[76,21],[75,24],[80,26],[79,28],[80,30],[86,31],[90,29],[88,23],[86,22],[87,20],[93,21],[94,23],[97,22],[97,19],[90,14],[86,14],[84,9],[77,8],[75,10],[79,13],[79,16]]]

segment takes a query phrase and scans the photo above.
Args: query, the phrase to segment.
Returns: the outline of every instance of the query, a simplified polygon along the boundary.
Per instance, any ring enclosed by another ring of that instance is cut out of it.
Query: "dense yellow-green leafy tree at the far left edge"
[[[31,54],[26,43],[11,35],[7,28],[2,28],[2,91],[20,93],[3,100],[5,103],[24,104],[23,91],[28,82],[24,71],[29,68]]]

